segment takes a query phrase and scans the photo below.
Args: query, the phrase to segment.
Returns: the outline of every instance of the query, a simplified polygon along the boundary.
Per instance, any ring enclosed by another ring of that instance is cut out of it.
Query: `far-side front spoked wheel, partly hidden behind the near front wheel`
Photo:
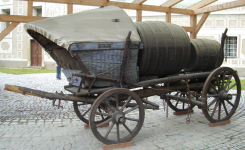
[[[78,118],[86,124],[89,124],[89,111],[91,110],[92,104],[84,103],[84,102],[73,102],[73,108],[78,116]],[[98,107],[99,112],[104,112],[101,107]],[[100,115],[96,117],[96,124],[101,123],[107,120],[108,117]]]

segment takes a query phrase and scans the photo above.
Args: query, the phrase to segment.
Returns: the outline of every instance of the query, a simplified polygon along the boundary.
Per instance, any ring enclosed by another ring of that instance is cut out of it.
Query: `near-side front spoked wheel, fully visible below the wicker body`
[[[99,106],[104,106],[106,113],[100,113]],[[109,119],[96,125],[98,115]],[[137,94],[123,88],[115,88],[104,92],[94,102],[89,117],[91,130],[95,137],[104,144],[128,142],[140,131],[145,112],[141,99]],[[110,123],[109,128],[99,128]]]

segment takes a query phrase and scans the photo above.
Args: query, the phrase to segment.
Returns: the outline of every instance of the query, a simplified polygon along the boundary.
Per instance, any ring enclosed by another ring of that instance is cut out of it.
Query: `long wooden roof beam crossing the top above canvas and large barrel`
[[[29,0],[25,0],[29,1]],[[172,0],[171,0],[172,1]],[[104,0],[35,0],[35,2],[50,2],[50,3],[65,3],[65,4],[78,4],[78,5],[88,5],[88,6],[103,6]],[[155,11],[155,12],[170,12],[176,14],[193,15],[193,10],[179,9],[179,8],[169,8],[163,6],[152,6],[152,5],[142,5],[136,3],[123,3],[109,1],[108,5],[117,6],[123,9],[134,9],[143,11]]]

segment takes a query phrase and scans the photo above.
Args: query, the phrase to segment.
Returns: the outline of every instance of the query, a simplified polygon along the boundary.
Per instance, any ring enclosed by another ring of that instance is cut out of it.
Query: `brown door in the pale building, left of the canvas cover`
[[[31,66],[42,66],[42,47],[31,40]]]

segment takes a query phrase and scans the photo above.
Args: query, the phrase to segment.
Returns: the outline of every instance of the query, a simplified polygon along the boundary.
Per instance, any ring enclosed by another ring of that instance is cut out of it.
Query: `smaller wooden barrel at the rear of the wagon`
[[[191,57],[185,67],[186,71],[209,71],[221,66],[220,44],[210,39],[191,40]]]

